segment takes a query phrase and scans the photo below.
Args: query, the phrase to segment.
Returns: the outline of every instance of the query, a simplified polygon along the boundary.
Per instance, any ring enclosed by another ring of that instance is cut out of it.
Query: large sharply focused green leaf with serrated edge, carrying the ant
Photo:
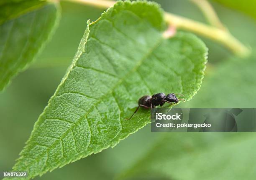
[[[195,35],[163,37],[156,3],[119,1],[88,23],[72,65],[34,125],[14,166],[28,179],[114,147],[150,122],[138,98],[200,88],[207,47]]]

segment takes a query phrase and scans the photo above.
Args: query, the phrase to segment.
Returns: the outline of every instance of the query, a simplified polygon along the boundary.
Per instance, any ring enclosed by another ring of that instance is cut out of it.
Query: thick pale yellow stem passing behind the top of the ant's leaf
[[[108,8],[115,4],[114,0],[67,0],[70,2],[83,3],[85,5],[92,5],[100,8]],[[202,35],[211,40],[215,40],[220,44],[225,45],[234,54],[240,57],[246,57],[251,53],[251,50],[243,45],[236,37],[230,34],[230,32],[223,30],[222,28],[216,28],[214,26],[206,25],[204,23],[197,22],[188,18],[184,18],[172,13],[164,13],[164,18],[169,25],[174,26],[177,29],[187,30],[194,32],[198,35]]]

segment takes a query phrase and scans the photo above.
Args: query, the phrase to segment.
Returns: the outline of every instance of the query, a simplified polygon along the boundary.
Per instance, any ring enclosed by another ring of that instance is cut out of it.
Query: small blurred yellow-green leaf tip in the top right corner
[[[231,7],[256,19],[255,0],[214,0],[222,5]]]

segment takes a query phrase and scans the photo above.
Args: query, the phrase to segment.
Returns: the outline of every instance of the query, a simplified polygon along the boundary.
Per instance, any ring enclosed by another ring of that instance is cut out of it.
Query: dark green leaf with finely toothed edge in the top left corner
[[[0,2],[0,90],[24,70],[49,39],[59,5],[39,0]]]

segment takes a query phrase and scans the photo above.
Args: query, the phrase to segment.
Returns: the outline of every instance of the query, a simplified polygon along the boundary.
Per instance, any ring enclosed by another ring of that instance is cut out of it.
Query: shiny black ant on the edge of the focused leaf
[[[179,95],[181,95],[181,94],[179,94]],[[149,95],[145,95],[145,96],[142,96],[138,100],[138,107],[133,112],[133,115],[138,111],[138,109],[140,107],[144,107],[146,109],[151,108],[151,112],[152,112],[153,108],[158,105],[163,106],[165,102],[170,103],[170,104],[176,104],[179,102],[179,100],[184,100],[184,99],[178,99],[176,97],[176,95],[173,93],[165,95],[163,92],[161,92],[161,93],[152,95],[152,97]],[[186,100],[184,100],[184,101],[186,101]],[[133,115],[131,115],[131,117],[126,120],[130,120],[133,117]]]

